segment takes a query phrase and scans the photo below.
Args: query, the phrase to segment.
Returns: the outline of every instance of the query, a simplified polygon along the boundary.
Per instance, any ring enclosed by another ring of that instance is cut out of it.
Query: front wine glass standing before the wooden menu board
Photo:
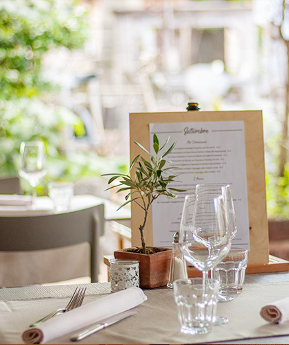
[[[202,272],[227,256],[231,247],[223,197],[186,195],[179,230],[179,249],[189,263]],[[214,317],[214,324],[225,324],[225,317]]]

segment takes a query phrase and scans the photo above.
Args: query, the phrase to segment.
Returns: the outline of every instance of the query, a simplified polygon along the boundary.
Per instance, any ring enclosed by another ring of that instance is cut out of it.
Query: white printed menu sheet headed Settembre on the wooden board
[[[150,123],[151,148],[154,133],[160,147],[168,136],[166,148],[177,141],[166,159],[178,167],[174,172],[179,183],[169,186],[186,192],[178,193],[177,199],[161,195],[152,204],[152,229],[157,229],[153,245],[171,247],[173,234],[179,231],[184,196],[193,194],[196,184],[222,183],[231,186],[236,212],[237,233],[232,244],[249,250],[244,122]]]

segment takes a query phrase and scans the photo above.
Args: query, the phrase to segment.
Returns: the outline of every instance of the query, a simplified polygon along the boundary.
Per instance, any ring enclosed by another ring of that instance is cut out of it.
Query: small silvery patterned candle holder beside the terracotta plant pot
[[[112,292],[136,286],[139,288],[139,260],[110,259]]]

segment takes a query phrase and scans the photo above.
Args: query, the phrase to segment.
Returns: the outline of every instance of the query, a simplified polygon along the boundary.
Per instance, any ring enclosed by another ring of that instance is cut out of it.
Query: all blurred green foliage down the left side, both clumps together
[[[42,76],[44,53],[81,48],[87,37],[87,13],[75,0],[0,1],[0,176],[17,174],[21,141],[36,139],[44,141],[49,163],[42,186],[53,179],[76,181],[107,169],[127,170],[121,158],[68,150],[73,134],[85,132],[82,121],[69,109],[41,100],[57,89]]]

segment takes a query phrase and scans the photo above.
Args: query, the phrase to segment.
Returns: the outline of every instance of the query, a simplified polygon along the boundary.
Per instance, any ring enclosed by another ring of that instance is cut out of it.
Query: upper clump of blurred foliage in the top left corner
[[[86,14],[77,8],[75,0],[1,0],[0,100],[49,89],[41,75],[44,53],[81,48],[87,38]]]

